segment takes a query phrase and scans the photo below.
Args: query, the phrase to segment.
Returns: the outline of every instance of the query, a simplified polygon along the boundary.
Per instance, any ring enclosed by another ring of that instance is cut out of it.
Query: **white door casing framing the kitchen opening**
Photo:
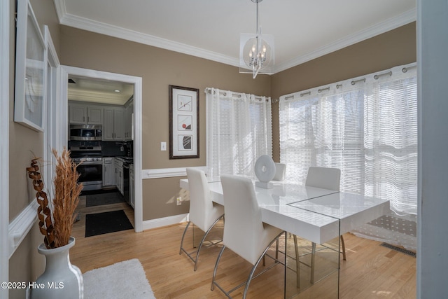
[[[92,69],[81,69],[77,67],[62,66],[60,73],[60,98],[61,111],[69,111],[69,78],[90,78],[91,81],[101,81],[104,85],[109,83],[125,83],[126,85],[134,86],[132,118],[134,124],[133,140],[132,140],[132,158],[134,165],[134,183],[133,183],[133,197],[134,197],[134,230],[135,232],[143,231],[143,203],[142,203],[142,187],[141,187],[141,105],[142,105],[142,79],[141,77],[127,76],[123,74],[109,73],[104,71],[95,71]],[[87,81],[86,81],[87,82]],[[64,144],[69,140],[69,113],[64,113],[60,118],[60,125],[65,127],[62,130],[63,137],[61,138]]]

